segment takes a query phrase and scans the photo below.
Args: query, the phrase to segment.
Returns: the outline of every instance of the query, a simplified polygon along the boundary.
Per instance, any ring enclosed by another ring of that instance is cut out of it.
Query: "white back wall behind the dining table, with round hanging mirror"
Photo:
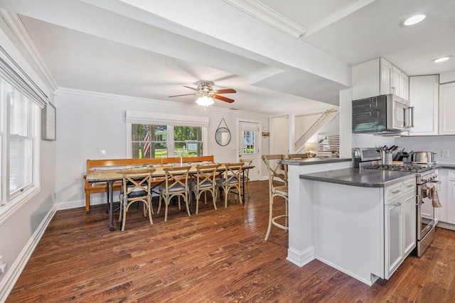
[[[255,120],[261,122],[262,126],[269,126],[268,116],[210,107],[204,111],[201,106],[176,106],[172,101],[166,104],[164,101],[104,96],[68,89],[58,91],[55,99],[58,116],[55,199],[58,209],[85,206],[82,176],[86,173],[87,159],[127,158],[127,109],[159,112],[163,115],[172,113],[208,116],[208,153],[215,155],[216,162],[237,160],[237,119]],[[223,118],[232,135],[226,146],[220,146],[215,141],[215,130]],[[263,141],[260,149],[267,154],[268,141]],[[99,150],[106,150],[106,156],[100,156]],[[105,203],[105,199],[105,194],[92,194],[91,204]]]

